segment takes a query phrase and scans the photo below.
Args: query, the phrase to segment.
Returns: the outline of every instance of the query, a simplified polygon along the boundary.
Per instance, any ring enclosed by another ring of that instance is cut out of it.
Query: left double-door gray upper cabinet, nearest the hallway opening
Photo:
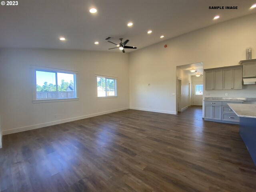
[[[222,69],[205,71],[205,90],[222,90]]]

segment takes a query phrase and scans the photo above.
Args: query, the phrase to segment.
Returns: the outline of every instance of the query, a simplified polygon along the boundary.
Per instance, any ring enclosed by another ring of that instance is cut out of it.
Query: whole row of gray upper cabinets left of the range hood
[[[206,69],[205,90],[242,89],[242,66]]]

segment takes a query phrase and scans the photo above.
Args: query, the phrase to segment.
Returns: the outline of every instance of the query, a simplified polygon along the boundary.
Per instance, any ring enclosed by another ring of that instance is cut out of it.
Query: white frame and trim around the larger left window
[[[64,70],[58,68],[50,68],[50,67],[43,67],[43,66],[31,66],[34,71],[34,80],[33,80],[33,103],[40,103],[40,102],[60,102],[60,101],[70,101],[70,100],[78,100],[78,89],[77,89],[77,78],[78,72],[72,70]],[[53,98],[53,99],[38,99],[37,98],[37,91],[36,91],[36,71],[42,72],[52,72],[55,73],[55,81],[56,81],[56,94],[58,95],[58,75],[57,73],[67,73],[74,75],[74,98]]]

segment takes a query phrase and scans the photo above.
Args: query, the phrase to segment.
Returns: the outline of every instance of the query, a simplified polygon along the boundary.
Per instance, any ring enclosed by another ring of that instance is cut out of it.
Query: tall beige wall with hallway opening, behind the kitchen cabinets
[[[214,22],[214,21],[213,21]],[[130,107],[176,112],[176,66],[204,62],[204,68],[238,65],[246,47],[256,52],[256,14],[222,22],[131,52]],[[167,44],[167,48],[164,48]],[[256,58],[256,54],[252,53]],[[151,87],[148,87],[151,83]],[[208,96],[256,97],[256,86],[215,92]],[[152,108],[149,108],[152,106]]]

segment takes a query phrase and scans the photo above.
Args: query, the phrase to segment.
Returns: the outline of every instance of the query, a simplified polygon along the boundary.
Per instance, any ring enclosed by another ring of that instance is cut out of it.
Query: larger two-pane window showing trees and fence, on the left
[[[36,100],[73,98],[77,98],[75,72],[36,69]]]

